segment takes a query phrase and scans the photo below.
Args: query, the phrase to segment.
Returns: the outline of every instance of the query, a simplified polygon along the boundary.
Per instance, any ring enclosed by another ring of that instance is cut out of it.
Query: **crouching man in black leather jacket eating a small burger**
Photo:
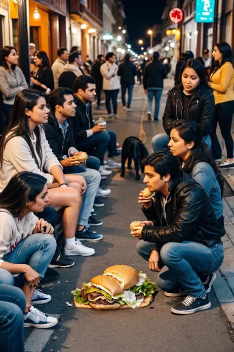
[[[143,164],[144,182],[156,195],[146,200],[140,194],[147,221],[131,232],[143,240],[137,251],[153,271],[166,265],[157,278],[166,296],[187,294],[172,313],[192,314],[209,308],[208,292],[224,258],[221,236],[225,229],[221,233],[203,188],[181,171],[169,151],[151,154]]]

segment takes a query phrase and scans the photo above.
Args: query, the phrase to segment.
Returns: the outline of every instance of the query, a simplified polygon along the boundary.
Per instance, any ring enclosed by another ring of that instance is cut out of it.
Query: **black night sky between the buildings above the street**
[[[147,31],[153,28],[154,24],[162,23],[162,12],[166,5],[166,0],[122,0],[126,15],[125,25],[129,35],[129,43],[132,50],[141,54],[139,39],[144,40],[143,47],[150,46],[150,35]]]

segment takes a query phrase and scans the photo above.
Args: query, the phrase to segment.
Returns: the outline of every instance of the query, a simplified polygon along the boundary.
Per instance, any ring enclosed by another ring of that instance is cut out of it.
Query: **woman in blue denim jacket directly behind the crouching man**
[[[171,124],[168,146],[174,156],[182,159],[183,171],[193,177],[210,199],[216,219],[224,229],[223,177],[212,154],[202,141],[202,132],[193,120],[180,120]]]

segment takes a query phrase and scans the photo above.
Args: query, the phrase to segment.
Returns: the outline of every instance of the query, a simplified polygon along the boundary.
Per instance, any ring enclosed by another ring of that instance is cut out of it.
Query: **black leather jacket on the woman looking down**
[[[168,134],[168,127],[171,122],[181,120],[183,116],[183,86],[176,85],[172,88],[167,97],[162,123],[165,132]],[[199,86],[191,98],[188,106],[188,118],[196,121],[202,130],[202,135],[210,133],[215,111],[214,95],[205,86]]]

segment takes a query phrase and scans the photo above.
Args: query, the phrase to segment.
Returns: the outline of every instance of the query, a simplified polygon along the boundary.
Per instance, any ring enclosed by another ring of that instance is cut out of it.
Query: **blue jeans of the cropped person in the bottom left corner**
[[[3,270],[3,269],[0,269]],[[21,289],[0,284],[0,351],[25,352],[24,310],[26,298]]]

